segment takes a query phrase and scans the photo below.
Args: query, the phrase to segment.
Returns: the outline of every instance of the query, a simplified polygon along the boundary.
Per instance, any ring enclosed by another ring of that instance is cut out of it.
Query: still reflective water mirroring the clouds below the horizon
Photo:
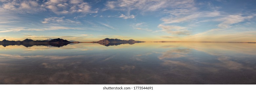
[[[256,44],[0,46],[0,84],[256,84]]]

